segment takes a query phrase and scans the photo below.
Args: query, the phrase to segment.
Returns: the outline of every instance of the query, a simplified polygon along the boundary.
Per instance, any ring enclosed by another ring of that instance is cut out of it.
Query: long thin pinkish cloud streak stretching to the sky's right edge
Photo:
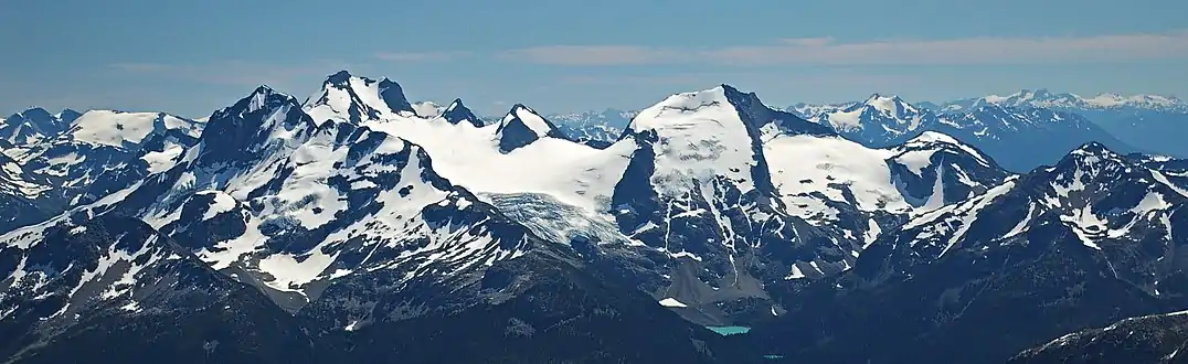
[[[791,38],[712,49],[642,45],[550,45],[512,50],[504,59],[551,65],[994,65],[1188,59],[1188,31],[1086,37],[977,37],[842,43]]]

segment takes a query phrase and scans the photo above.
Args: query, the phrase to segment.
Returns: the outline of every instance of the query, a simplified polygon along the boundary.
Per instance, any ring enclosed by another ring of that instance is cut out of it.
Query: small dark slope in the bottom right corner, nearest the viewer
[[[1177,311],[1068,333],[1024,350],[1007,363],[1183,363],[1186,346],[1188,311]]]

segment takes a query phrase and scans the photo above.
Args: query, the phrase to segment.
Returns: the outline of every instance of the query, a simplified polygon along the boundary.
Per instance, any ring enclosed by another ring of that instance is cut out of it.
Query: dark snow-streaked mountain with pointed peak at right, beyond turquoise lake
[[[783,352],[801,359],[998,363],[1069,331],[1188,305],[1176,258],[1188,243],[1178,235],[1186,204],[1188,191],[1163,172],[1088,143],[1053,167],[912,217],[849,274],[816,287],[821,296],[802,296],[797,314],[753,332],[779,343],[881,338],[864,352]],[[872,330],[871,320],[885,325]],[[807,323],[830,328],[791,332]],[[1000,339],[960,345],[987,331]]]

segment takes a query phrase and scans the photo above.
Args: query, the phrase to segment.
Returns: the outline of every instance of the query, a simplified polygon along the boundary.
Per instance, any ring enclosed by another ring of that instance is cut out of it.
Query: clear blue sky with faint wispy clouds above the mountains
[[[485,114],[640,108],[733,84],[769,104],[1020,88],[1188,97],[1188,1],[0,0],[0,114],[206,116],[340,69]]]

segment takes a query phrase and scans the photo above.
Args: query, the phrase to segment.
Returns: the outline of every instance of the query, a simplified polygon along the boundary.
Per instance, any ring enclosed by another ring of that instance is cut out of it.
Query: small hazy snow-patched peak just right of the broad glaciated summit
[[[849,140],[885,147],[903,142],[936,123],[936,114],[899,96],[874,94],[862,102],[790,108],[817,123],[832,126]]]

